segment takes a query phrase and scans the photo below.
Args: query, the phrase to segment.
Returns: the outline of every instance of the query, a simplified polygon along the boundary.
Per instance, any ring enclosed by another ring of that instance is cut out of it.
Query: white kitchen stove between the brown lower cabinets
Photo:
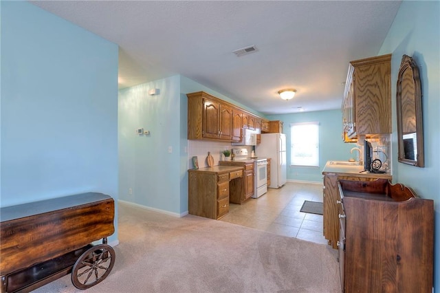
[[[252,152],[253,153],[253,152]],[[254,195],[252,198],[261,197],[267,193],[267,158],[250,157],[248,149],[232,149],[233,160],[254,162]]]

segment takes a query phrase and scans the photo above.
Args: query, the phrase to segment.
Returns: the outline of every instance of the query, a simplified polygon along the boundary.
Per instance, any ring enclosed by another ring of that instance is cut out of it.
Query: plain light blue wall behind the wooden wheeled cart
[[[1,206],[118,199],[118,46],[31,3],[0,5]]]

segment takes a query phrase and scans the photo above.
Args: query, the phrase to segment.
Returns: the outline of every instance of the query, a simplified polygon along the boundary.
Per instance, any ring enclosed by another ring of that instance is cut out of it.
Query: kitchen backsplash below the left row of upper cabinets
[[[232,148],[246,148],[251,153],[253,146],[232,146],[230,142],[214,142],[208,140],[188,140],[188,169],[193,169],[192,157],[197,156],[199,162],[199,168],[207,167],[206,157],[208,157],[208,151],[214,158],[214,166],[219,164],[219,160],[224,160],[223,151]]]

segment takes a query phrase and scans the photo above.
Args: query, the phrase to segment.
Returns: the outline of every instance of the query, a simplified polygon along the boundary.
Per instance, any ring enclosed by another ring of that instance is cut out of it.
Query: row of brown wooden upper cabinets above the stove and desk
[[[256,131],[263,131],[263,127],[269,129],[269,121],[204,91],[186,96],[188,97],[188,140],[238,142],[241,140],[243,128]]]

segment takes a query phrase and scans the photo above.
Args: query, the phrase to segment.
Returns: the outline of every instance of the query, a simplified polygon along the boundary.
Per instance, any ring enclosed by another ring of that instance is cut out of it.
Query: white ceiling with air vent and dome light
[[[118,44],[120,88],[181,74],[274,114],[340,109],[349,61],[378,54],[401,1],[32,3]]]

